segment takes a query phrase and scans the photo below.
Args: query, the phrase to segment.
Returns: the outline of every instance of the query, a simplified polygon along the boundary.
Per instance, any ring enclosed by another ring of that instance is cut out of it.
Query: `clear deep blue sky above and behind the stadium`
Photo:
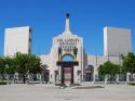
[[[30,26],[32,52],[48,54],[52,38],[64,31],[70,13],[72,34],[83,37],[89,54],[103,54],[105,26],[132,29],[135,52],[135,0],[0,0],[0,55],[4,28]]]

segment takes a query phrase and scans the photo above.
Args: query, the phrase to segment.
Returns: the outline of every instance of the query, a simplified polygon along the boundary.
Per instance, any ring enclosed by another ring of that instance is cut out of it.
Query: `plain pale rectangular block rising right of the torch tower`
[[[104,28],[104,55],[126,55],[131,51],[131,29]]]

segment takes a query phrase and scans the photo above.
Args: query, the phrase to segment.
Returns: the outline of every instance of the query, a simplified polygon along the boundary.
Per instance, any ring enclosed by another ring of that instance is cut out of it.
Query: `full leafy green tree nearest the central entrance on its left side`
[[[16,72],[23,76],[24,84],[26,83],[26,74],[41,73],[41,60],[35,54],[16,53],[14,63],[16,65]]]

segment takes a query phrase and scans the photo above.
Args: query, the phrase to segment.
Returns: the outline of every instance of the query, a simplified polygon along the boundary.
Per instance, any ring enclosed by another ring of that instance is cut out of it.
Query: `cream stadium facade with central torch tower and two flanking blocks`
[[[102,76],[98,75],[98,66],[106,61],[121,64],[121,55],[132,51],[131,38],[131,29],[105,27],[104,55],[89,55],[83,47],[83,38],[73,35],[70,30],[69,14],[67,14],[64,33],[53,37],[49,54],[39,55],[45,68],[44,77],[50,83],[66,85],[80,84],[83,80],[99,80]],[[5,28],[5,56],[30,51],[31,29],[29,26]],[[67,61],[66,58],[70,60]]]

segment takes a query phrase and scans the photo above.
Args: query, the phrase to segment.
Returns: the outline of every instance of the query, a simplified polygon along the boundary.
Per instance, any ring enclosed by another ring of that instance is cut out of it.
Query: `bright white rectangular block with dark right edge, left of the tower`
[[[16,52],[28,53],[31,50],[29,26],[5,28],[4,55],[14,55]]]

